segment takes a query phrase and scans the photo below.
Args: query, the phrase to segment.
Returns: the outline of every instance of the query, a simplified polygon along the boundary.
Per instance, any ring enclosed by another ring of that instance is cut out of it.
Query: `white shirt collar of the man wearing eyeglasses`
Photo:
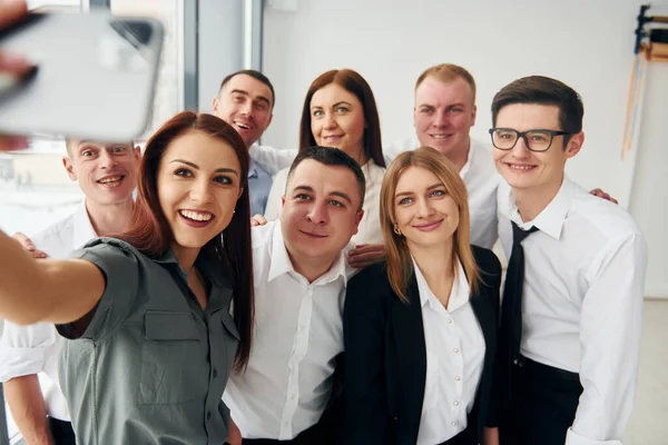
[[[540,231],[543,231],[552,238],[559,240],[561,238],[561,230],[563,229],[563,224],[566,221],[566,217],[568,216],[568,210],[570,209],[574,192],[576,185],[564,174],[561,187],[559,188],[559,191],[554,198],[552,198],[548,206],[542,209],[542,211],[538,214],[533,220],[524,222],[520,216],[517,201],[512,196],[512,189],[510,189],[505,214],[521,229],[527,230],[532,226],[536,226],[540,229]]]

